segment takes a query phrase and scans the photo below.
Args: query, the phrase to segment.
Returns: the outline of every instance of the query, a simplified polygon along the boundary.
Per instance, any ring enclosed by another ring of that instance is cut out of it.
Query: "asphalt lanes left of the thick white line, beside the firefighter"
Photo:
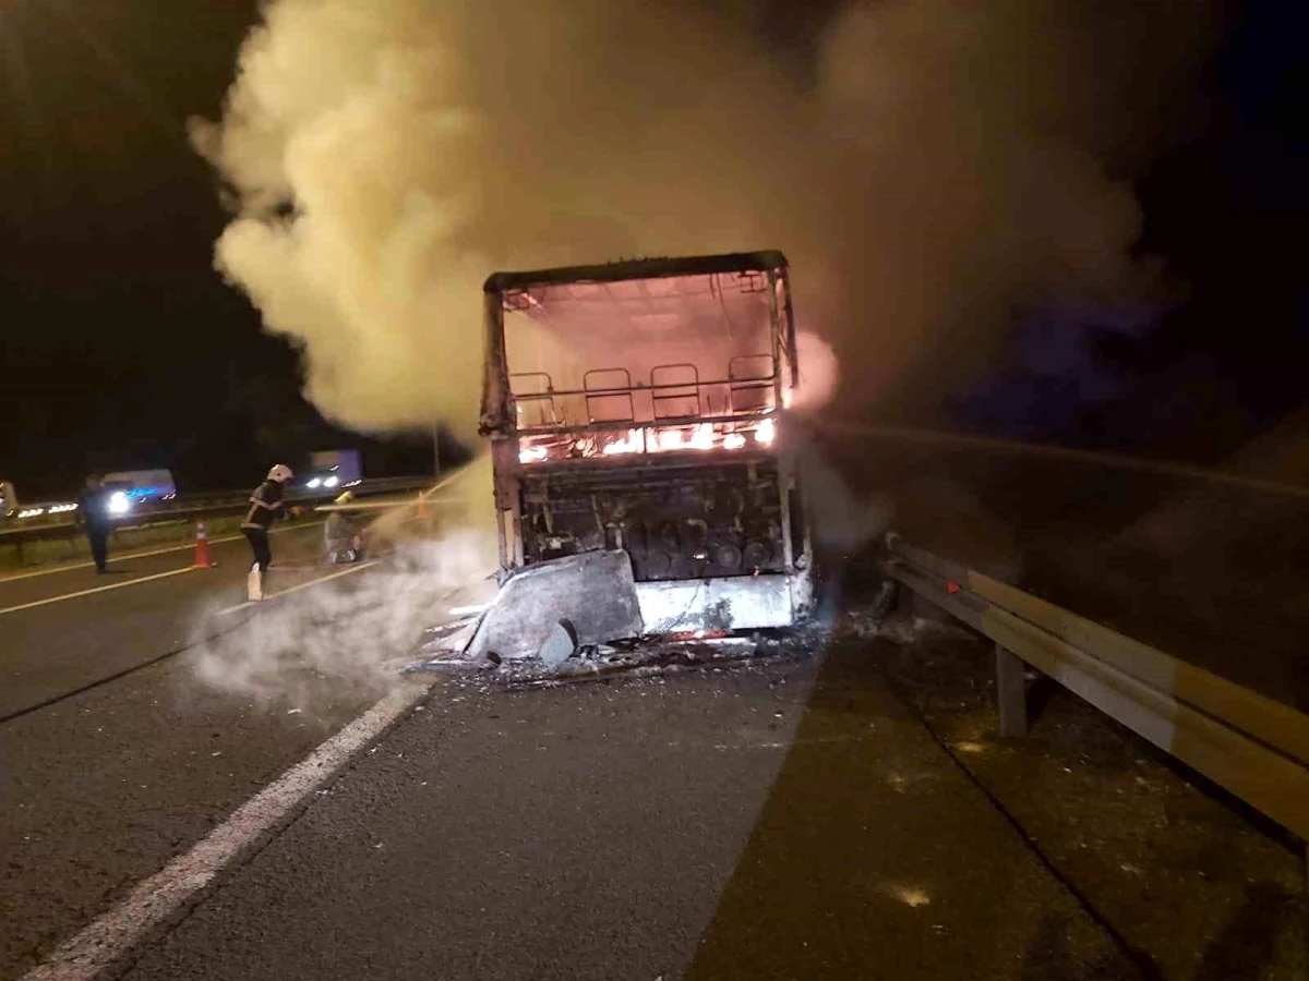
[[[310,566],[321,534],[305,526],[274,538],[279,560],[302,565],[275,568],[272,589],[332,572]],[[245,599],[249,547],[220,544],[215,556],[217,569],[0,613],[0,717],[220,630],[241,642],[249,611],[207,613]],[[109,576],[75,569],[0,581],[0,610],[191,561],[179,551],[111,559]],[[372,700],[340,687],[332,695],[288,715],[276,698],[199,681],[194,653],[182,651],[0,725],[0,977],[30,968]]]

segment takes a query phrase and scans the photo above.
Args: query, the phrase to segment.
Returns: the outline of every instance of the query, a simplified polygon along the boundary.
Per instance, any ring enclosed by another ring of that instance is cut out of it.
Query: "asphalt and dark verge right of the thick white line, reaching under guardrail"
[[[903,650],[954,658],[941,729],[882,641],[439,684],[126,977],[1296,977],[1297,857],[1076,700],[997,740],[984,651]]]

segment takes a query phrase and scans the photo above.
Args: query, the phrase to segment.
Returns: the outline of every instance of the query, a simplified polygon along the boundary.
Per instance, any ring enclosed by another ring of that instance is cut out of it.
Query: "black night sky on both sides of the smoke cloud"
[[[1215,460],[1305,402],[1309,60],[1297,4],[1233,5],[1203,131],[1139,182],[1143,247],[1187,298],[1149,323],[1016,323],[959,428]],[[360,445],[298,395],[297,358],[212,269],[217,118],[254,0],[0,0],[0,476],[56,494],[170,466],[241,487],[272,458]],[[76,12],[76,13],[73,13]],[[785,243],[766,243],[784,247]],[[431,466],[421,441],[365,468]]]

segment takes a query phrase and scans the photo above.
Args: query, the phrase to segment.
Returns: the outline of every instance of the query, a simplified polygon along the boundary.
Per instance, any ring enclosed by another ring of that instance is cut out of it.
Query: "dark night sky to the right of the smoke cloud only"
[[[1140,251],[1174,306],[1144,322],[1014,326],[1008,370],[961,395],[987,436],[1219,463],[1309,402],[1309,60],[1293,3],[1229,5],[1206,124],[1136,182]]]

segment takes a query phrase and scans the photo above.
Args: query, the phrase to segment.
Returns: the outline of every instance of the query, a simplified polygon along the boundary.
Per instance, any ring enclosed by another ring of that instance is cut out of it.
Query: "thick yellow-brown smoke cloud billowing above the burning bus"
[[[497,268],[783,249],[848,407],[957,383],[1017,306],[1148,301],[1127,179],[1208,0],[827,7],[785,50],[763,0],[275,0],[192,128],[217,266],[365,430],[470,430]]]

